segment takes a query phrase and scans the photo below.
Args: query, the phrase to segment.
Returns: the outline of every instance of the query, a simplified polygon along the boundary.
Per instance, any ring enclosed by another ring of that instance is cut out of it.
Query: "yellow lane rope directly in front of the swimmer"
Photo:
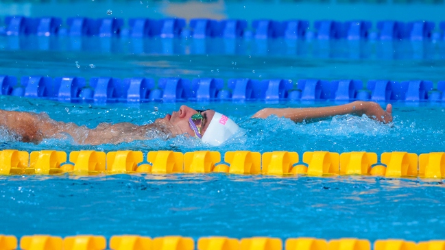
[[[69,156],[69,158],[68,158]],[[228,151],[0,151],[0,175],[55,175],[73,173],[229,173],[246,175],[376,175],[385,177],[445,177],[445,152],[298,153]]]

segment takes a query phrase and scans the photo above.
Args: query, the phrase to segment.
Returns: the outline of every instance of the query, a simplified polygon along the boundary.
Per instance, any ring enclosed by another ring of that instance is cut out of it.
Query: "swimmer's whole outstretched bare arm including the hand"
[[[256,112],[253,118],[267,118],[272,114],[290,118],[296,123],[302,121],[320,121],[337,115],[352,114],[362,116],[363,114],[383,123],[392,122],[392,105],[386,106],[386,111],[378,103],[372,101],[354,101],[344,105],[320,107],[320,108],[265,108]]]

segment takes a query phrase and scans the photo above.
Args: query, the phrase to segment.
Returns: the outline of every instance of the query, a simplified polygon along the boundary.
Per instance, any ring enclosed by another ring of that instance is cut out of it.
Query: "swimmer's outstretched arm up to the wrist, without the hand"
[[[254,118],[267,118],[272,114],[290,118],[296,123],[302,121],[319,121],[324,118],[330,118],[337,115],[353,114],[361,116],[365,113],[367,104],[363,101],[354,101],[344,105],[320,108],[265,108],[254,114]]]

